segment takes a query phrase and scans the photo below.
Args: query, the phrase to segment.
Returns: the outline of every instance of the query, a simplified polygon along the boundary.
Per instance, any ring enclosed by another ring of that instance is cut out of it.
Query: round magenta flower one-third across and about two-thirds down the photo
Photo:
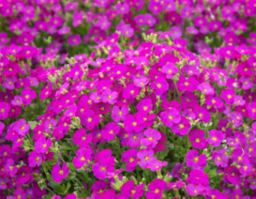
[[[73,136],[74,144],[77,144],[79,147],[84,148],[89,146],[92,141],[92,134],[86,134],[86,129],[78,129]]]

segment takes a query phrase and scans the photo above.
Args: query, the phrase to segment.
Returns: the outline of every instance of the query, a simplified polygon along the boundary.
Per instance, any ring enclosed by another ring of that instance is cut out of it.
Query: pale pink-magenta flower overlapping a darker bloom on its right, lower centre
[[[147,138],[141,140],[141,143],[147,148],[154,148],[157,145],[157,142],[161,138],[159,131],[155,129],[147,129],[144,131],[144,135]]]

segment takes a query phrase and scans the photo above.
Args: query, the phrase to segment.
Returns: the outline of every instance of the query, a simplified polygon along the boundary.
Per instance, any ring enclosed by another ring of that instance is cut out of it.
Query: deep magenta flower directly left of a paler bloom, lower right
[[[200,129],[193,129],[189,132],[189,141],[192,142],[191,145],[195,149],[205,149],[207,147],[207,142],[204,139],[205,133]]]

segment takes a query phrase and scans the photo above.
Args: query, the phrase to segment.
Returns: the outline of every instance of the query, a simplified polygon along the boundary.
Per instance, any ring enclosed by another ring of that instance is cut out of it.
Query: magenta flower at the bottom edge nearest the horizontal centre
[[[128,180],[126,183],[124,183],[121,187],[121,194],[124,195],[126,198],[140,198],[144,194],[144,184],[141,183],[137,187],[135,187],[135,184],[132,180]]]

